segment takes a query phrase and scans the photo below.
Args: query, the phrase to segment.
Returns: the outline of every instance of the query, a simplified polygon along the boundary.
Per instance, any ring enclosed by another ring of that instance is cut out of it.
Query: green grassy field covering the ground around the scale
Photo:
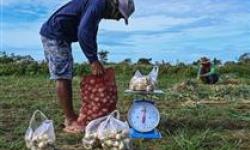
[[[133,97],[124,95],[130,76],[117,74],[118,109],[126,118]],[[216,85],[202,85],[182,76],[162,74],[155,97],[161,113],[161,140],[135,140],[135,150],[250,149],[250,79],[237,78]],[[75,77],[74,105],[80,107]],[[0,77],[0,150],[25,150],[24,133],[36,109],[54,120],[56,147],[82,150],[83,135],[62,132],[63,113],[55,97],[54,83],[44,76]]]

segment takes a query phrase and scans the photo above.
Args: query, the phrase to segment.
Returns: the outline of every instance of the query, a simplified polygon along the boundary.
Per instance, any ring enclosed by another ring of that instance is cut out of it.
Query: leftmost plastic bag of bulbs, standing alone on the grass
[[[40,119],[37,118],[38,113]],[[55,140],[53,121],[48,120],[40,110],[36,110],[25,133],[27,148],[31,150],[54,150]]]

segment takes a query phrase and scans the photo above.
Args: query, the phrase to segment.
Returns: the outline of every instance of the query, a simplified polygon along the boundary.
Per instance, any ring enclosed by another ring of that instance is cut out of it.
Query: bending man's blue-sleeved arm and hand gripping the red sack
[[[88,7],[81,19],[78,29],[78,41],[83,53],[91,63],[92,73],[94,75],[101,75],[104,72],[104,68],[98,61],[96,36],[98,25],[102,19],[102,11],[104,10],[105,6],[103,1],[92,2],[92,5]]]

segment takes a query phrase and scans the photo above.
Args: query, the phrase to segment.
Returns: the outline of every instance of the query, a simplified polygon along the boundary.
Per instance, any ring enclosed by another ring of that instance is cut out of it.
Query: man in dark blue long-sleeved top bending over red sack
[[[40,34],[48,61],[50,79],[56,81],[56,93],[65,114],[66,129],[77,126],[72,105],[72,42],[79,42],[92,74],[102,75],[97,57],[97,31],[102,19],[125,19],[134,12],[133,0],[71,0],[43,24]]]

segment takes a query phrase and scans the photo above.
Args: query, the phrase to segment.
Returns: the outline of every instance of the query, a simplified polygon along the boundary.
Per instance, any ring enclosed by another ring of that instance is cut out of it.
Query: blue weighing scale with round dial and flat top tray
[[[164,94],[161,90],[151,92],[126,90],[125,93],[143,96]],[[135,99],[128,111],[128,122],[131,126],[129,136],[132,139],[162,138],[156,129],[160,122],[160,113],[151,99]]]

